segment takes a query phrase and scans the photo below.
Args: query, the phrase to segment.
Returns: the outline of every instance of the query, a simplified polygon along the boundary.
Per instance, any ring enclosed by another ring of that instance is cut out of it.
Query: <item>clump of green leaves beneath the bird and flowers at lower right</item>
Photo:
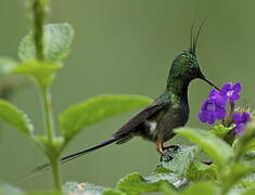
[[[206,132],[191,128],[180,128],[175,131],[199,146],[179,145],[178,150],[170,148],[168,153],[173,159],[162,161],[151,176],[142,177],[139,173],[131,173],[122,179],[116,188],[101,188],[100,194],[110,192],[110,194],[126,195],[149,192],[163,192],[166,195],[254,193],[255,168],[245,160],[244,153],[239,158],[237,156],[253,141],[255,123],[248,126],[234,147],[226,145],[226,142],[215,136],[213,131]],[[202,153],[205,153],[216,164],[201,162],[199,154]],[[91,188],[89,190],[89,194],[94,194]],[[75,186],[72,192],[80,191]]]

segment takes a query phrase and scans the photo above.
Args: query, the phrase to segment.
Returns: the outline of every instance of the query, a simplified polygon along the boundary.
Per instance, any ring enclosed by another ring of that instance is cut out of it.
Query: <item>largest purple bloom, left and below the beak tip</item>
[[[213,125],[215,120],[224,119],[226,117],[226,96],[222,96],[217,90],[212,90],[199,113],[200,121]]]

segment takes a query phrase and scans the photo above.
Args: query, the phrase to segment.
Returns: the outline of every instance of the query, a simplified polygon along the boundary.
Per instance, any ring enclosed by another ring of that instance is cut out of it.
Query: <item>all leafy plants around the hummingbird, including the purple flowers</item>
[[[77,182],[67,182],[62,185],[59,172],[60,156],[76,134],[110,117],[144,107],[152,103],[152,100],[146,96],[124,94],[90,98],[74,104],[60,114],[61,134],[56,136],[50,87],[58,70],[63,67],[62,61],[71,51],[74,30],[66,23],[43,25],[47,5],[47,0],[33,1],[34,27],[21,41],[20,62],[11,57],[0,57],[1,75],[4,77],[10,74],[23,75],[33,78],[37,83],[43,105],[42,121],[44,121],[46,133],[37,135],[26,114],[3,100],[0,100],[0,119],[26,134],[42,148],[52,168],[56,191],[26,193],[12,185],[0,183],[0,195],[66,193],[74,195],[138,195],[150,192],[162,192],[166,195],[250,195],[255,193],[253,165],[255,122],[252,120],[252,113],[243,110],[237,115],[238,112],[234,108],[234,101],[240,98],[241,83],[227,83],[221,91],[211,92],[202,106],[200,119],[209,125],[218,119],[221,119],[222,122],[215,125],[209,131],[187,127],[175,129],[176,134],[188,139],[194,145],[178,145],[178,148],[167,150],[167,156],[173,158],[165,159],[163,156],[161,164],[150,176],[130,173],[120,179],[113,188]],[[231,107],[229,114],[226,108],[228,102]],[[214,107],[212,105],[218,106],[218,109],[212,109]],[[224,115],[221,115],[222,113]],[[248,123],[250,119],[252,121]]]

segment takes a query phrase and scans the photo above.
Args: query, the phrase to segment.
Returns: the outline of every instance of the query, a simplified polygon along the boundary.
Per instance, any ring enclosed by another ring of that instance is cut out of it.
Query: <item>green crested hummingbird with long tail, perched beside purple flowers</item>
[[[69,161],[112,143],[126,143],[133,136],[141,136],[154,142],[156,151],[161,155],[167,156],[168,153],[165,151],[169,147],[175,147],[175,145],[164,146],[164,143],[175,136],[173,130],[184,126],[189,118],[188,87],[190,82],[199,78],[218,89],[202,74],[197,61],[195,49],[202,26],[203,24],[195,36],[193,35],[193,27],[191,28],[189,49],[181,52],[173,61],[163,94],[129,119],[111,139],[95,146],[62,157],[61,162]],[[169,159],[170,157],[167,156],[167,158]],[[49,167],[49,164],[44,164],[34,171],[41,171]]]

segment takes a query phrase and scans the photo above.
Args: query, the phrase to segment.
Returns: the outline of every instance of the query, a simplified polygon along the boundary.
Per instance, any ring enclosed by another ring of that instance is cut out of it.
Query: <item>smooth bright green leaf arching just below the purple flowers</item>
[[[200,145],[220,168],[228,164],[230,157],[233,156],[233,150],[211,132],[192,128],[179,128],[175,132]]]

